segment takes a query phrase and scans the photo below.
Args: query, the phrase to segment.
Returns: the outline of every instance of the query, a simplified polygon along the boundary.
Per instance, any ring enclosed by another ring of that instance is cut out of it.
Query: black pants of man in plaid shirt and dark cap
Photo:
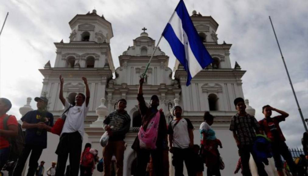
[[[239,147],[241,160],[242,160],[242,166],[243,166],[243,175],[244,176],[251,176],[251,172],[249,169],[249,159],[250,159],[250,153],[252,154],[253,160],[257,165],[258,174],[261,176],[268,176],[266,171],[264,170],[264,165],[262,162],[257,162],[256,160],[256,154],[253,152],[252,145],[241,145]]]

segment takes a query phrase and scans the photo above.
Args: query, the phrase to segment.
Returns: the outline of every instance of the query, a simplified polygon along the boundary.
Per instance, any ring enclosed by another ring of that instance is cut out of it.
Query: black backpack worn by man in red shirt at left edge
[[[10,118],[10,115],[6,116],[3,120],[3,126],[5,130],[8,130],[7,121]],[[16,161],[20,154],[22,153],[23,147],[25,145],[25,137],[21,125],[18,123],[18,135],[16,137],[8,138],[10,143],[10,156],[9,160]]]

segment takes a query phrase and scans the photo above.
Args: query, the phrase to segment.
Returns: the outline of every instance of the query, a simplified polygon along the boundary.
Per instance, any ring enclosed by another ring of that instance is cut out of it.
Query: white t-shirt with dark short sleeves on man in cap
[[[172,120],[168,127],[168,134],[173,134],[173,147],[188,148],[190,143],[188,129],[193,129],[193,124],[189,119],[184,118],[180,119],[177,124],[176,122],[177,120]]]

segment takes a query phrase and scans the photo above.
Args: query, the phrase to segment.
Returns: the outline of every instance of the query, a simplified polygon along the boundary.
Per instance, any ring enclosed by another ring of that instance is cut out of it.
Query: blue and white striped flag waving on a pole
[[[186,86],[198,72],[213,62],[193,25],[183,0],[180,0],[176,6],[162,35],[187,72]]]

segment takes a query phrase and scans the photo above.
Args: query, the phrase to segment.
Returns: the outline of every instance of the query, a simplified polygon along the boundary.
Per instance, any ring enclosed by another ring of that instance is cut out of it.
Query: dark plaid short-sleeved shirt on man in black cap
[[[236,132],[237,139],[242,145],[253,144],[256,137],[255,131],[259,131],[259,128],[256,118],[249,114],[245,116],[236,114],[231,118],[230,131]]]

